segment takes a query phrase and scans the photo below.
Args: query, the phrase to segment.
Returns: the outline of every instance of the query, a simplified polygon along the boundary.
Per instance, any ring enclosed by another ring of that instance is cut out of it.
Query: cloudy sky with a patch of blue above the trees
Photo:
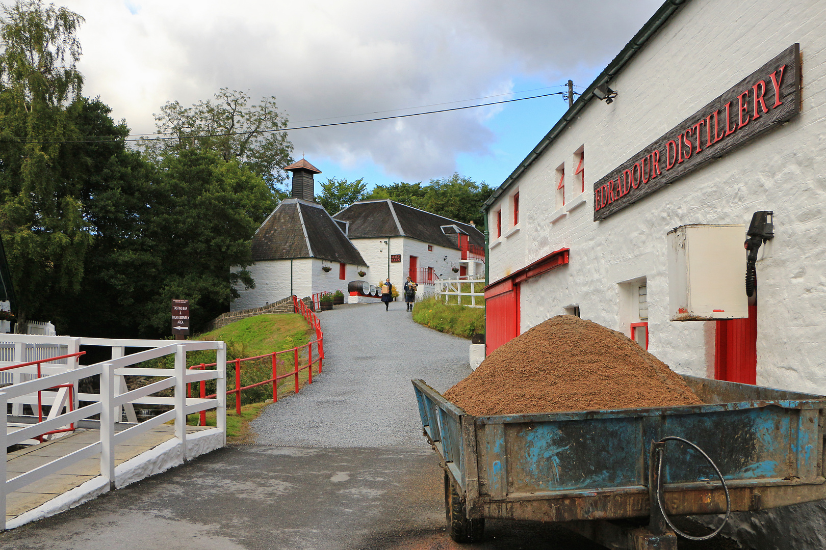
[[[165,102],[191,105],[220,87],[276,96],[292,126],[558,92],[568,78],[582,90],[662,0],[55,3],[86,19],[85,95],[144,134]],[[460,172],[498,186],[566,106],[551,96],[290,139],[322,177]]]

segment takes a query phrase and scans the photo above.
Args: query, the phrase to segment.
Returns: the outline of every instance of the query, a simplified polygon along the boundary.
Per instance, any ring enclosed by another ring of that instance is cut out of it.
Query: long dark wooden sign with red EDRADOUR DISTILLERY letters
[[[594,184],[594,221],[731,153],[800,112],[800,45],[787,48]]]

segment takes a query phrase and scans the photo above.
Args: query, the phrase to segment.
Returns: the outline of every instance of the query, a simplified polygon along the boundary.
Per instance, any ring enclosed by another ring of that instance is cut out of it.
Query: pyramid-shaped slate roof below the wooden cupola
[[[255,232],[252,251],[254,261],[320,258],[367,266],[324,207],[302,199],[278,204]]]

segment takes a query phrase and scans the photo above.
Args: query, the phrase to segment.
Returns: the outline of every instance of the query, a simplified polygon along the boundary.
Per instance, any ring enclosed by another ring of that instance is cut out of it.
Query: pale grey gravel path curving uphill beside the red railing
[[[470,341],[422,327],[405,303],[319,314],[324,371],[252,422],[256,443],[302,447],[425,445],[411,378],[444,392],[471,373]]]

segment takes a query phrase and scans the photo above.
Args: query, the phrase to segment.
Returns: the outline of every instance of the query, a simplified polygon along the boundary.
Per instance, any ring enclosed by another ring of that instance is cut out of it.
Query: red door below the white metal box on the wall
[[[757,306],[748,306],[748,319],[717,322],[714,378],[757,383]]]

